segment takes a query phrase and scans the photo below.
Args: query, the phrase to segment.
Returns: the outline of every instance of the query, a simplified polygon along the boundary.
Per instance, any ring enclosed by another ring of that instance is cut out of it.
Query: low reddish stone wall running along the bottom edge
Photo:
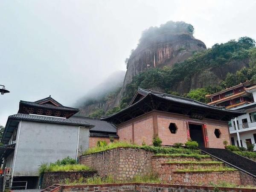
[[[104,185],[62,186],[61,192],[252,192],[252,189],[215,188],[212,186],[122,183]]]

